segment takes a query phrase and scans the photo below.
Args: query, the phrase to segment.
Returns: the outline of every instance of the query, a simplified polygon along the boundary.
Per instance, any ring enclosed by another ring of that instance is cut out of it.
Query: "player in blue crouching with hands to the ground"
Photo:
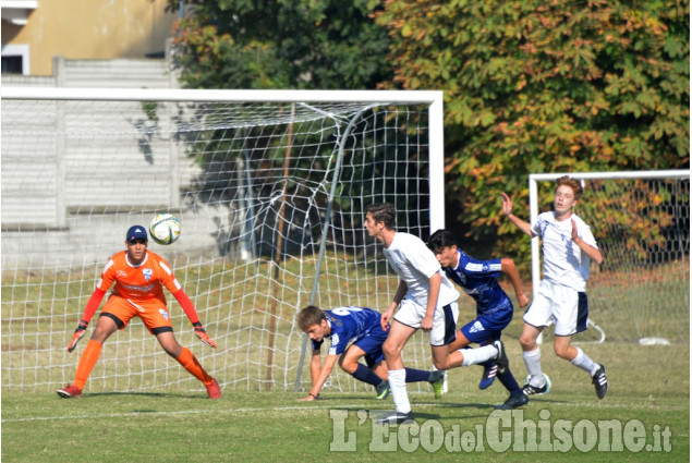
[[[337,307],[321,310],[308,305],[298,314],[298,326],[306,332],[313,344],[313,357],[309,363],[312,388],[302,401],[319,398],[325,381],[335,364],[355,379],[373,385],[377,391],[376,399],[386,399],[391,391],[387,376],[387,363],[383,344],[387,340],[387,331],[381,328],[379,312],[365,307]],[[326,338],[331,341],[325,364],[321,364],[319,349]],[[359,362],[365,357],[367,366]],[[435,397],[439,399],[442,391],[442,371],[424,371],[406,368],[406,382],[428,381],[433,385]]]

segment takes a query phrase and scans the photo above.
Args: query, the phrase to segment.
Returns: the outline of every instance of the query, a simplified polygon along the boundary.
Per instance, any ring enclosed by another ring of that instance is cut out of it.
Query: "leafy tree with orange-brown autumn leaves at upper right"
[[[527,218],[529,173],[689,168],[689,1],[432,3],[390,0],[377,23],[392,86],[445,89],[448,209],[468,235],[518,233],[499,195]]]

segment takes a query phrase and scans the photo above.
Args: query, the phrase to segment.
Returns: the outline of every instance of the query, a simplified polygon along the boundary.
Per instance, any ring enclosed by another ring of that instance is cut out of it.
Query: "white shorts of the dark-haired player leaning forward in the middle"
[[[413,301],[401,301],[394,320],[411,328],[421,328],[421,321],[425,317],[425,309]],[[433,316],[433,329],[430,330],[430,345],[448,345],[457,339],[457,319],[459,318],[459,305],[457,301],[445,306],[437,306]]]

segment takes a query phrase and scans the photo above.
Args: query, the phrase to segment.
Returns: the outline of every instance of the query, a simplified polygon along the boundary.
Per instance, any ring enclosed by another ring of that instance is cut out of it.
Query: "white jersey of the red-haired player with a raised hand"
[[[586,291],[591,258],[572,242],[571,219],[576,223],[579,237],[598,248],[591,228],[575,214],[557,221],[555,212],[543,212],[531,231],[543,241],[543,278],[583,292]]]

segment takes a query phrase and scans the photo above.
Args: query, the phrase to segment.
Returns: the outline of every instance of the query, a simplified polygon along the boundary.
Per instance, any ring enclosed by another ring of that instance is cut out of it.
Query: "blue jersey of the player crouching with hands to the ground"
[[[380,314],[372,308],[337,307],[325,310],[325,317],[331,328],[328,337],[331,340],[329,355],[342,354],[350,342],[356,342],[371,332],[381,331]],[[318,351],[323,341],[313,341],[313,350]]]

